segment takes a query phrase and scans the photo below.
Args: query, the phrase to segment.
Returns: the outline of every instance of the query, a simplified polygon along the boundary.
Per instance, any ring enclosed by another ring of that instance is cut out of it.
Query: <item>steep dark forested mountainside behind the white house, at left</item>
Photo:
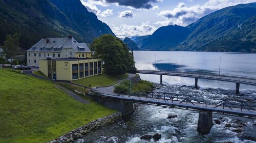
[[[0,44],[7,34],[20,33],[20,47],[30,48],[43,36],[73,35],[91,43],[101,34],[112,34],[79,0],[0,0]]]

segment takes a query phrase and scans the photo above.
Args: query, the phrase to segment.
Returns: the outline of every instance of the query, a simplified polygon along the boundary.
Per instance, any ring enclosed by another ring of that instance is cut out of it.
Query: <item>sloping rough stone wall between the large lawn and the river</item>
[[[55,143],[55,142],[58,142],[58,143],[71,142],[72,143],[76,139],[85,136],[87,133],[91,132],[92,130],[96,130],[100,127],[103,127],[111,123],[115,123],[121,119],[122,119],[121,112],[113,113],[109,116],[94,120],[87,125],[81,126],[75,130],[70,131],[69,133],[63,134],[62,136],[56,139],[53,139],[52,141],[48,141],[47,143]]]

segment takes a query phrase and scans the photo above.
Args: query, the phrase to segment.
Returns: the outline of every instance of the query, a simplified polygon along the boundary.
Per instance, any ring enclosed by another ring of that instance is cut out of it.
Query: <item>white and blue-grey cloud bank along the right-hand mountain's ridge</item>
[[[185,3],[179,3],[178,6],[173,10],[161,11],[158,13],[158,15],[166,18],[165,21],[162,21],[162,24],[166,24],[166,21],[169,21],[169,24],[186,26],[190,23],[196,22],[199,18],[216,10],[228,6],[251,2],[255,2],[255,0],[209,0],[203,5],[194,5],[191,7],[187,7]],[[161,21],[156,23],[160,24]]]

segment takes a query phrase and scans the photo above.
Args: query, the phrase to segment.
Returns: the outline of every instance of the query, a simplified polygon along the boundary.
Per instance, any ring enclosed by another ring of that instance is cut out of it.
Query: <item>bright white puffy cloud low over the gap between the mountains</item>
[[[157,28],[150,25],[150,22],[142,22],[141,25],[126,25],[114,26],[112,31],[117,37],[133,37],[153,34]]]

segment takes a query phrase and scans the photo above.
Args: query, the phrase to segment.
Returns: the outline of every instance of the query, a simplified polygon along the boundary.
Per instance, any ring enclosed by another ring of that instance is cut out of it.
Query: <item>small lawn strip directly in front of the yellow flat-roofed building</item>
[[[102,73],[100,75],[95,75],[95,76],[91,76],[91,77],[87,77],[79,80],[74,80],[72,82],[85,85],[86,87],[106,87],[109,85],[116,84],[119,79],[124,79],[127,76],[129,75],[123,74],[123,75],[110,76],[105,73]]]

